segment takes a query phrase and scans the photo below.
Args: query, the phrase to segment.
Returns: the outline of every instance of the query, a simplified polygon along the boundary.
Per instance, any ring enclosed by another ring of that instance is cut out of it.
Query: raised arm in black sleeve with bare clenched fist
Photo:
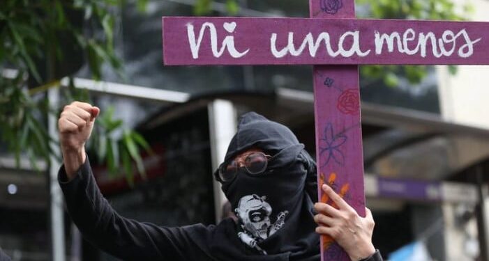
[[[189,246],[182,228],[163,228],[119,216],[100,193],[84,144],[100,110],[82,102],[65,106],[58,121],[63,166],[59,184],[82,235],[123,260],[182,260]]]

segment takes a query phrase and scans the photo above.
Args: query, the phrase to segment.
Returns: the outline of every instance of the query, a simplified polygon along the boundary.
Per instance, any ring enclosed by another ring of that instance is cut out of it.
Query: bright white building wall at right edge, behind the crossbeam
[[[471,3],[470,19],[489,22],[488,0],[453,0],[460,5]],[[444,119],[463,125],[489,129],[489,65],[458,66],[455,76],[446,66],[437,66],[439,99]]]

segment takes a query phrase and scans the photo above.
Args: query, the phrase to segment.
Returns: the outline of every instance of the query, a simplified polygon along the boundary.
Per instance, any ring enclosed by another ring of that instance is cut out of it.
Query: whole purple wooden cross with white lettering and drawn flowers
[[[365,215],[358,65],[489,64],[489,23],[354,19],[354,0],[310,17],[163,17],[166,65],[314,66],[318,184]],[[319,200],[331,203],[318,187]],[[322,260],[349,260],[322,237]]]

